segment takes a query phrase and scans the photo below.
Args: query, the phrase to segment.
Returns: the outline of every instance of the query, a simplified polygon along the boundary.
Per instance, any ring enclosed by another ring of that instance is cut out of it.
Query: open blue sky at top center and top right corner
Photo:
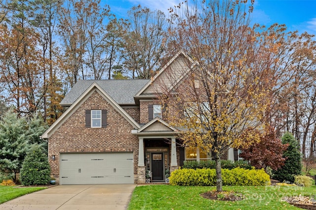
[[[111,11],[124,17],[132,6],[141,4],[152,10],[159,9],[167,16],[167,9],[183,0],[101,0]],[[288,30],[316,34],[316,0],[255,0],[252,22],[271,26],[285,24]]]

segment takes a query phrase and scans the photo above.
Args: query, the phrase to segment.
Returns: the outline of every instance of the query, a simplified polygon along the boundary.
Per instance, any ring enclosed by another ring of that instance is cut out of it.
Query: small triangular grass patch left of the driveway
[[[47,187],[24,187],[18,188],[14,186],[0,186],[0,204],[20,197],[31,192],[39,191]]]

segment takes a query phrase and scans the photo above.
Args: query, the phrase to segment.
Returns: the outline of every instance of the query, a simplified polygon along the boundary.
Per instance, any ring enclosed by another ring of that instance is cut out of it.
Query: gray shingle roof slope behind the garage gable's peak
[[[79,80],[60,102],[61,105],[73,104],[94,82],[106,91],[118,104],[135,104],[137,94],[150,80]]]

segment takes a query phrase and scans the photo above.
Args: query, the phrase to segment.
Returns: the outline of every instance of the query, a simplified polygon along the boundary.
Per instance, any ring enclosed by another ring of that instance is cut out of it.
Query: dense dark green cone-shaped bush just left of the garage
[[[47,154],[36,145],[30,150],[22,163],[20,180],[23,185],[47,184],[50,180],[50,166]]]

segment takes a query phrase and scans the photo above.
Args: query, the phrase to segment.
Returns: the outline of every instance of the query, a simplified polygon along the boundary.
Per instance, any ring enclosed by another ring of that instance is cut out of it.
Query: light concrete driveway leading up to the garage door
[[[136,184],[58,185],[0,205],[0,210],[126,210]]]

